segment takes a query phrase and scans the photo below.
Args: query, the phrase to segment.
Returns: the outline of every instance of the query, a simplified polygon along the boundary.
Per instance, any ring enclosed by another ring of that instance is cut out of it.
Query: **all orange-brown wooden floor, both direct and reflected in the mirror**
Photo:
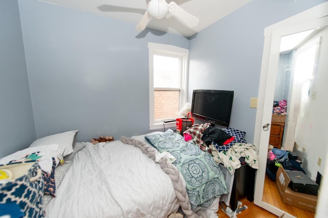
[[[268,202],[271,205],[274,205],[277,208],[280,208],[293,216],[298,218],[313,218],[315,213],[310,211],[302,210],[297,207],[293,207],[288,204],[284,204],[281,201],[276,183],[272,181],[269,177],[265,176],[265,183],[264,183],[264,191],[263,191],[263,201]],[[271,217],[278,217],[267,210],[264,210],[261,207],[258,207],[253,202],[249,202],[246,198],[240,200],[242,205],[246,205],[248,209],[241,211],[241,213],[237,214],[238,218],[249,218],[249,217],[256,217],[256,218],[271,218]],[[223,204],[226,207],[225,204]],[[219,210],[217,212],[219,218],[229,218],[229,216],[222,211],[221,205],[219,206]]]

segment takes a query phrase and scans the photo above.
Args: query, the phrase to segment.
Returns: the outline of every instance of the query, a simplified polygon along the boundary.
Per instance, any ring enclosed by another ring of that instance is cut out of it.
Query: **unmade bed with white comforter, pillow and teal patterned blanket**
[[[26,153],[42,146],[52,147],[51,152],[40,153],[43,157],[38,160],[48,167],[46,171],[55,181],[42,197],[42,205],[38,205],[45,217],[168,217],[176,211],[187,217],[217,217],[220,196],[227,194],[230,187],[213,157],[194,144],[192,149],[190,143],[181,144],[179,149],[185,149],[192,159],[196,153],[201,155],[206,166],[198,161],[200,156],[193,160],[194,165],[173,164],[186,157],[179,157],[178,150],[167,154],[161,145],[184,141],[179,134],[168,130],[94,145],[75,142],[77,133],[44,137],[24,150]],[[165,138],[171,141],[158,140]],[[59,157],[54,155],[58,152]],[[18,157],[21,156],[19,153]],[[64,157],[65,163],[52,161],[51,170],[50,157],[52,160]],[[9,160],[17,160],[17,156],[3,158],[0,164]],[[190,173],[186,166],[194,173],[194,181],[186,179]],[[203,174],[197,175],[199,171]],[[197,193],[197,183],[206,184],[199,189],[201,193]],[[47,187],[45,183],[45,190]]]

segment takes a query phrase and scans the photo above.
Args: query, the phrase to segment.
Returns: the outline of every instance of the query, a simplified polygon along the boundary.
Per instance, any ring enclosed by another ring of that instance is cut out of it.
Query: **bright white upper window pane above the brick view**
[[[154,55],[154,88],[180,88],[179,58]]]

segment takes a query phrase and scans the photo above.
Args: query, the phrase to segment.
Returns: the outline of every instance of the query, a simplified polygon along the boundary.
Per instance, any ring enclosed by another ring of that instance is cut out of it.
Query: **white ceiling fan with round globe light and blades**
[[[183,10],[175,2],[167,3],[166,0],[151,0],[147,5],[144,16],[142,16],[139,24],[135,27],[135,30],[142,31],[147,27],[151,18],[160,19],[167,14],[172,14],[189,28],[196,27],[199,22],[198,17]]]

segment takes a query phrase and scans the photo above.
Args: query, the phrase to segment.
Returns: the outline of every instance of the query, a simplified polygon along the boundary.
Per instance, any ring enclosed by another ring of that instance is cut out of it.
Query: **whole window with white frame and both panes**
[[[164,120],[175,119],[187,101],[189,50],[152,42],[148,48],[149,126],[156,129]]]

